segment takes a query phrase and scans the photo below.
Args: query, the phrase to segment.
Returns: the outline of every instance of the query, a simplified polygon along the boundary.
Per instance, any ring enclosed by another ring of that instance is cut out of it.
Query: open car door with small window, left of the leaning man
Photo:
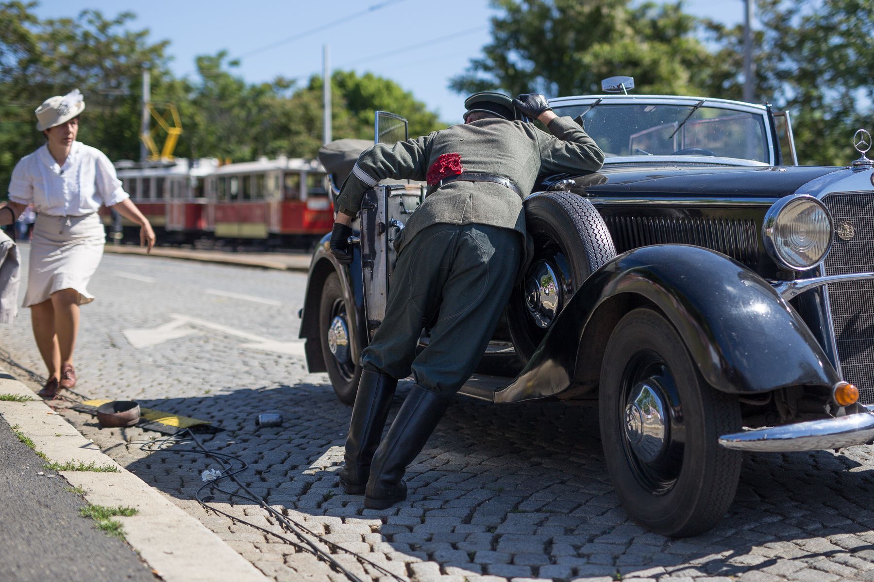
[[[374,127],[376,143],[393,145],[406,140],[404,118],[378,111]],[[425,197],[425,189],[417,183],[378,184],[364,193],[361,207],[361,259],[364,278],[364,312],[368,333],[385,318],[385,304],[392,281],[397,242],[407,216],[413,214]]]

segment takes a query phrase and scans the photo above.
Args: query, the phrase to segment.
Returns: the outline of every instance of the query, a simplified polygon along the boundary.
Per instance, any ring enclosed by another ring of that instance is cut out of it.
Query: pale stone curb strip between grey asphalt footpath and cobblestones
[[[232,550],[204,524],[152,489],[133,473],[114,462],[93,442],[80,435],[64,417],[39,400],[0,367],[0,394],[17,394],[34,401],[0,401],[0,415],[18,425],[36,449],[52,462],[94,462],[111,465],[119,473],[63,471],[73,486],[86,491],[89,503],[135,507],[139,513],[117,517],[130,544],[151,568],[167,582],[229,579],[264,582],[267,578]]]

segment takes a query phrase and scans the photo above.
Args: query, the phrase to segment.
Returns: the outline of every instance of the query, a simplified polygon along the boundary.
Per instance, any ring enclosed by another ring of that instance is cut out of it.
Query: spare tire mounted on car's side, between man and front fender
[[[558,310],[589,275],[616,256],[607,224],[591,202],[569,192],[543,192],[525,201],[525,225],[534,239],[534,257],[510,297],[510,337],[527,362],[544,339],[554,317],[545,317],[542,302],[532,298],[532,285],[549,267],[556,277]],[[550,310],[546,310],[550,311]]]

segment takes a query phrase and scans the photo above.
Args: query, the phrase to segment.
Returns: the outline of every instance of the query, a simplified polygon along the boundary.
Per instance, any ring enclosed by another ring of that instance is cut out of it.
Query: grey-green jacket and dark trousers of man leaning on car
[[[386,178],[423,181],[444,154],[459,154],[464,172],[501,175],[524,193],[540,173],[600,168],[604,154],[571,118],[552,120],[549,130],[488,118],[372,147],[343,183],[337,206],[355,216],[367,188]],[[417,384],[447,396],[474,372],[510,300],[525,223],[522,197],[501,184],[453,181],[429,191],[401,231],[385,319],[362,365],[395,378],[412,372]],[[430,341],[416,355],[426,325]]]

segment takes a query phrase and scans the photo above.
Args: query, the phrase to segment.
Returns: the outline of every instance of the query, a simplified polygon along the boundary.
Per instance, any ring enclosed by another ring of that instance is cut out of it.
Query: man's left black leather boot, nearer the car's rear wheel
[[[373,453],[382,437],[385,418],[392,404],[398,380],[386,373],[364,370],[358,382],[355,406],[346,436],[346,466],[340,471],[340,483],[348,495],[361,495],[371,474]]]

